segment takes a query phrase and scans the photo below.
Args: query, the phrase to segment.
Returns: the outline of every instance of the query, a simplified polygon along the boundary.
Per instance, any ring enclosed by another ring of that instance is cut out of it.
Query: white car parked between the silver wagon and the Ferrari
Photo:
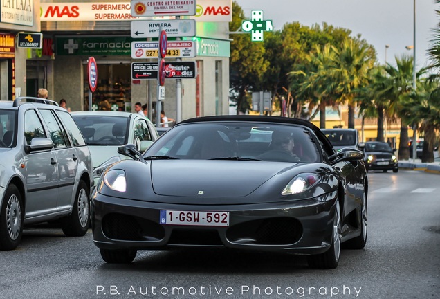
[[[153,123],[136,113],[75,111],[71,115],[89,145],[95,183],[109,165],[127,158],[118,154],[118,147],[134,144],[144,152],[159,137]]]

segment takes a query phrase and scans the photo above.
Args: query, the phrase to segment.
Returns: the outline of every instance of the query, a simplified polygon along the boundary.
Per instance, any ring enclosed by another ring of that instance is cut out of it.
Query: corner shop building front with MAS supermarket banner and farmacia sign
[[[214,12],[217,10],[203,8],[212,6],[212,3],[228,6],[225,10],[228,15],[216,15]],[[132,58],[131,42],[136,39],[131,37],[131,22],[136,19],[130,15],[130,4],[129,1],[42,3],[42,32],[53,41],[54,53],[38,57],[33,51],[28,69],[30,71],[30,66],[35,64],[45,64],[45,78],[53,82],[54,100],[66,99],[73,111],[89,109],[87,60],[94,57],[98,66],[98,86],[92,94],[91,108],[125,111],[131,109],[135,102],[149,103],[149,115],[154,120],[157,80],[133,78],[131,64],[157,62],[157,58]],[[232,1],[199,0],[197,5],[205,11],[199,16],[203,22],[194,16],[197,37],[182,38],[196,42],[197,55],[192,59],[181,59],[196,62],[197,77],[182,79],[181,88],[176,80],[165,81],[163,107],[166,114],[174,119],[179,118],[179,105],[181,119],[228,114],[228,26],[232,19]],[[71,12],[70,15],[67,12]],[[167,57],[166,61],[174,60]]]

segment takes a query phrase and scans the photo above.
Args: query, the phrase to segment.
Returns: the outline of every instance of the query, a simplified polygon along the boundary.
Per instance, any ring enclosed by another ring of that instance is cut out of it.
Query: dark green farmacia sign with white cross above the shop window
[[[57,37],[56,55],[131,55],[131,37]]]

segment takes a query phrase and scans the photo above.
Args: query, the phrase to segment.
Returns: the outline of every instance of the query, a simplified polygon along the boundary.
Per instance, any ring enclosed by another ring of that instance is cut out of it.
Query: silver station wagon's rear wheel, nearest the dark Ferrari
[[[89,188],[84,181],[78,184],[78,190],[73,202],[72,213],[61,219],[61,228],[68,237],[81,237],[87,233],[90,226],[90,196]]]

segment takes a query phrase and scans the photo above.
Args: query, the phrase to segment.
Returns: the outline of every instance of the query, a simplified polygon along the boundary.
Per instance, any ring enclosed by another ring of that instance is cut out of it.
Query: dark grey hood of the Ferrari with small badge
[[[294,165],[262,161],[152,161],[152,185],[154,193],[165,196],[245,197]]]

